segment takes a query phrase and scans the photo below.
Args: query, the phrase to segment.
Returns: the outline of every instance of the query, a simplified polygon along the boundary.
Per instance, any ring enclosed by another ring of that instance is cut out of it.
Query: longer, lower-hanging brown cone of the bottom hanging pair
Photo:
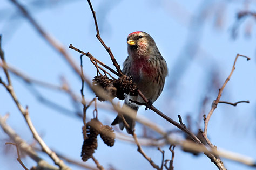
[[[97,119],[91,119],[86,125],[87,137],[82,146],[81,157],[87,161],[98,147],[97,136],[99,134],[100,122]],[[83,128],[84,133],[84,128]]]

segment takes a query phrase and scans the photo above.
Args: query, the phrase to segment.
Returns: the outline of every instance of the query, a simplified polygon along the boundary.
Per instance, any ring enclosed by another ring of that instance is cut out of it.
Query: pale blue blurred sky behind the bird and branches
[[[95,37],[95,25],[87,1],[19,2],[46,32],[64,45],[77,64],[80,54],[69,49],[70,44],[112,66],[109,55]],[[240,103],[233,107],[220,103],[210,119],[208,137],[218,148],[256,159],[256,18],[248,13],[255,12],[256,1],[99,0],[91,3],[96,11],[100,35],[120,65],[127,57],[126,37],[129,33],[144,31],[153,37],[169,67],[163,93],[154,106],[176,121],[177,115],[181,115],[183,122],[194,133],[199,128],[203,129],[203,115],[210,111],[218,89],[230,74],[237,53],[250,57],[250,61],[238,58],[234,74],[221,97],[221,101],[234,103],[249,100],[250,104]],[[64,82],[79,96],[80,77],[11,1],[1,1],[0,16],[6,62],[34,79],[58,86]],[[96,76],[95,67],[86,57],[83,64],[84,74],[93,79]],[[3,69],[0,69],[0,76],[6,81]],[[70,95],[62,91],[26,83],[14,74],[11,74],[11,80],[23,107],[29,106],[32,122],[45,143],[54,151],[82,162],[83,121],[77,116],[83,111],[82,104],[74,103]],[[84,94],[88,101],[95,96],[87,86]],[[87,111],[88,120],[93,117],[93,109],[91,107]],[[173,133],[173,136],[185,138],[175,126],[153,111],[145,111],[141,107],[138,112]],[[16,133],[27,143],[39,147],[1,84],[0,115],[6,113],[10,114],[7,123]],[[110,125],[116,114],[98,108],[98,117],[104,124]],[[120,132],[118,128],[114,129]],[[136,131],[138,137],[159,137],[138,123]],[[125,131],[122,133],[126,134]],[[16,148],[6,146],[6,141],[10,140],[1,129],[1,169],[23,169],[16,160]],[[165,159],[171,159],[168,148],[169,145],[161,146],[165,150]],[[160,165],[161,153],[156,147],[143,146],[143,149]],[[203,154],[196,157],[180,147],[176,147],[174,152],[174,169],[217,169]],[[44,153],[39,152],[39,155],[53,164]],[[117,139],[113,147],[107,147],[98,138],[94,155],[106,169],[153,169],[137,152],[137,146],[124,140]],[[227,169],[254,169],[231,160],[222,160]],[[28,168],[36,165],[29,157],[22,157],[22,161]],[[85,164],[95,166],[91,159]],[[68,165],[72,169],[83,169]]]

